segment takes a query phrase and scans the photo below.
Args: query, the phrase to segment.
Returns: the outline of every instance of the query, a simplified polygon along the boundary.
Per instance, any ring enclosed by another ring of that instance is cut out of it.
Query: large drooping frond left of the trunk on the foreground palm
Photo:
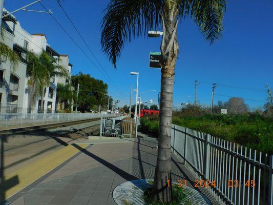
[[[124,43],[160,23],[160,0],[111,0],[102,19],[101,45],[116,68]]]

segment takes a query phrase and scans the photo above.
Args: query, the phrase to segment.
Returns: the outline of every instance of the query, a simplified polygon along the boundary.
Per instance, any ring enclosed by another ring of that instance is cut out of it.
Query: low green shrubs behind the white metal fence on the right
[[[205,113],[201,116],[174,113],[172,122],[175,125],[208,133],[251,149],[273,154],[273,121],[257,113],[238,115]],[[158,136],[159,116],[141,118],[140,130]]]

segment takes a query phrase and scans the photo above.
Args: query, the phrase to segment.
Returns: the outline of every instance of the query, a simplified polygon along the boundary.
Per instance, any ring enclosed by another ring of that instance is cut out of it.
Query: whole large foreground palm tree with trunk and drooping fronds
[[[160,130],[153,198],[172,201],[171,124],[179,20],[190,16],[211,44],[221,37],[225,0],[110,0],[102,19],[102,50],[114,67],[126,41],[163,29],[161,50]]]

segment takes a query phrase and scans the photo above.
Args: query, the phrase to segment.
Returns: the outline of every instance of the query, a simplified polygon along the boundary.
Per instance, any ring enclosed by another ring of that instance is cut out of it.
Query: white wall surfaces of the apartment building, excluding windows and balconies
[[[5,9],[4,9],[5,10]],[[6,11],[6,10],[5,10]],[[12,22],[7,22],[9,27],[13,28]],[[47,38],[45,35],[31,35],[26,30],[24,30],[20,23],[17,21],[17,24],[15,25],[15,31],[14,35],[6,32],[5,35],[7,36],[3,42],[6,45],[8,45],[11,49],[13,48],[13,44],[18,44],[19,46],[24,47],[25,40],[28,42],[28,50],[40,54],[41,51],[44,49],[46,50],[46,47],[48,45]],[[49,46],[49,45],[48,45]],[[68,66],[69,64],[69,57],[68,56],[60,56],[60,65],[64,66],[69,73],[71,73],[71,67]],[[13,72],[16,76],[19,78],[19,91],[15,92],[12,91],[12,93],[15,95],[18,95],[18,107],[23,108],[29,108],[29,102],[30,102],[30,96],[28,93],[28,79],[29,77],[26,76],[26,64],[19,62],[18,69],[17,70],[11,70],[11,65],[9,60],[7,60],[6,63],[0,63],[0,70],[4,70],[4,78],[6,79],[7,83],[9,83],[10,79],[10,73]],[[65,84],[66,78],[64,77],[57,77],[55,76],[55,85],[53,85],[54,88],[57,87],[57,83]],[[55,102],[56,102],[56,90],[53,91],[53,98],[48,97],[48,90],[49,88],[46,88],[46,95],[44,97],[45,100],[45,108],[47,108],[47,102],[52,102],[52,111],[55,110]],[[4,88],[0,88],[0,93],[2,94],[2,105],[7,101],[7,91],[4,90]],[[39,97],[40,99],[40,97]],[[34,109],[38,109],[38,99],[36,100],[36,103],[34,103],[33,107]],[[45,110],[46,112],[46,110]]]

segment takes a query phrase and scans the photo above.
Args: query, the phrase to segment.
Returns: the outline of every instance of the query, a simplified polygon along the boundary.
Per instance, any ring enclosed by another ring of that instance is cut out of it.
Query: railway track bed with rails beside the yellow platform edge
[[[73,143],[86,141],[100,118],[14,129],[0,134],[0,178]]]

